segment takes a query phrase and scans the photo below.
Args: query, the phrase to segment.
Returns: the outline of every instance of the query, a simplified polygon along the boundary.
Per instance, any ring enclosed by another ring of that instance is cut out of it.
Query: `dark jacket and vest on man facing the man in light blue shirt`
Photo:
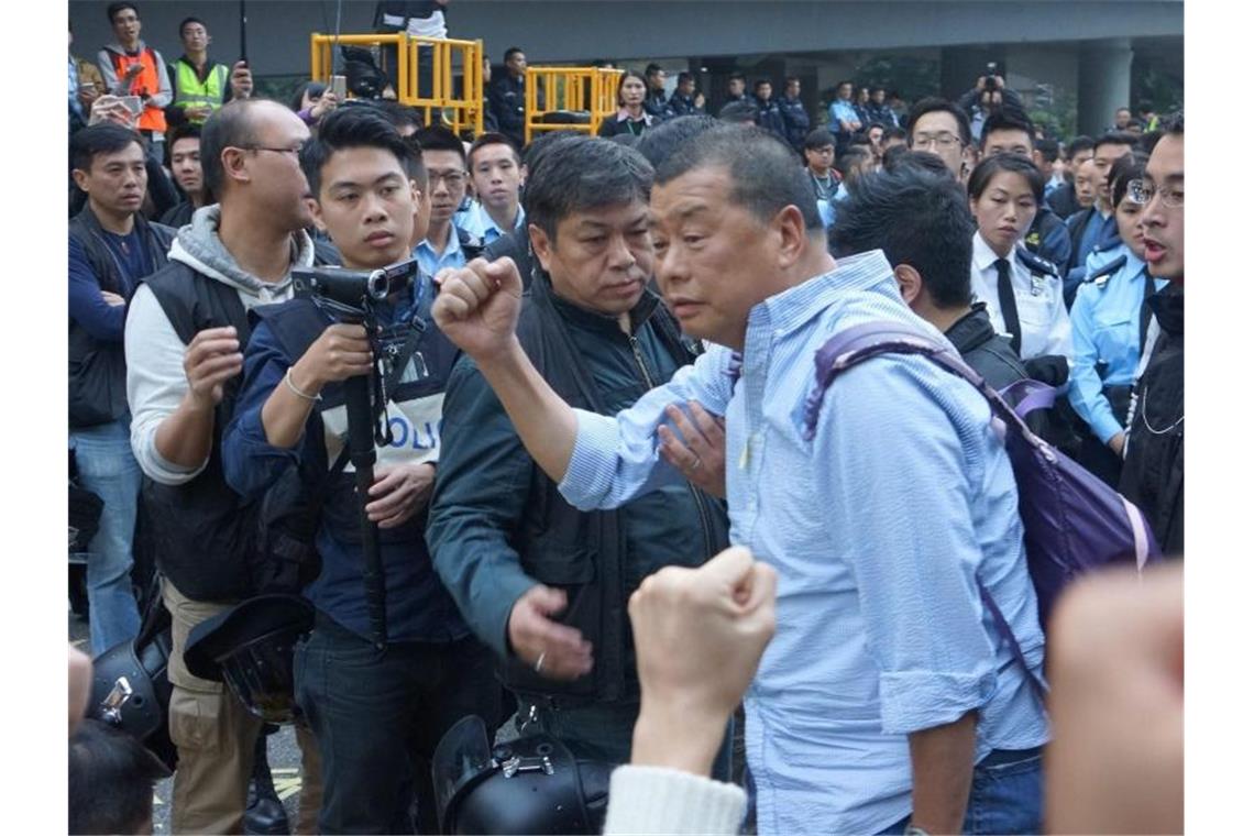
[[[692,360],[670,312],[646,292],[632,336],[614,318],[566,302],[538,273],[518,337],[540,375],[574,407],[614,415]],[[698,565],[727,543],[722,504],[668,483],[614,510],[581,511],[523,447],[500,401],[464,357],[445,390],[444,445],[426,541],[466,622],[504,656],[513,691],[587,703],[636,693],[627,598],[662,564]],[[537,676],[508,647],[514,602],[535,583],[566,590],[558,617],[593,645],[591,674]]]

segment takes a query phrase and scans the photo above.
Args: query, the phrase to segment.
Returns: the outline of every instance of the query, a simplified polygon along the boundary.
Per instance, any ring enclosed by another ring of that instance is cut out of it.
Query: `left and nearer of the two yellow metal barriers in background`
[[[425,122],[433,124],[433,115],[454,133],[473,130],[483,133],[483,41],[450,40],[445,38],[413,38],[405,33],[376,35],[310,35],[310,78],[330,84],[334,66],[334,49],[341,46],[394,46],[396,49],[396,99],[425,112]],[[418,60],[419,46],[431,48],[430,94],[420,95],[423,79]],[[461,63],[461,84],[453,73]],[[433,114],[434,112],[434,114]]]

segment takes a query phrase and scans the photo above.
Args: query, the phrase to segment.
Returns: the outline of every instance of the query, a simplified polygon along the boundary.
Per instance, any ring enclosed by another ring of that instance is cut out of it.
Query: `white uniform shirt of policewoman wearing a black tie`
[[[993,328],[1009,336],[997,292],[998,259],[977,231],[972,247],[971,292],[974,301],[988,306]],[[1007,261],[1022,332],[1020,357],[1031,360],[1043,355],[1061,355],[1070,358],[1071,320],[1067,318],[1062,298],[1062,281],[1053,267],[1021,247],[1016,247]],[[1030,268],[1028,264],[1033,267]]]

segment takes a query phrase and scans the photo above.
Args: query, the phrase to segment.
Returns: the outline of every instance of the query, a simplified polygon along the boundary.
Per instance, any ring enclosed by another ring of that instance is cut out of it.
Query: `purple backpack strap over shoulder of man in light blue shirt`
[[[949,343],[940,345],[922,330],[914,330],[907,323],[892,321],[865,322],[851,328],[845,328],[823,343],[815,353],[814,362],[816,386],[805,401],[806,440],[814,440],[814,435],[818,431],[819,412],[823,409],[823,396],[831,385],[831,381],[834,381],[838,375],[853,368],[858,363],[885,353],[922,355],[927,357],[946,371],[966,380],[968,384],[979,390],[979,392],[988,401],[989,407],[992,407],[993,415],[999,417],[1006,424],[1008,431],[1022,435],[1030,444],[1047,446],[1045,441],[1041,441],[1032,432],[1032,430],[1028,429],[1027,424],[1023,422],[1023,417],[1016,410],[1011,409],[1006,400],[996,390],[993,390],[992,386],[984,382],[983,377],[981,377],[971,366],[964,363],[962,358],[957,356],[954,348]],[[1009,389],[1013,389],[1016,385],[1012,385]],[[1042,384],[1041,386],[1045,385]],[[1033,387],[1026,386],[1022,389],[1026,397],[1042,397],[1041,392],[1036,391]],[[1051,387],[1045,386],[1045,389],[1048,389],[1051,395],[1053,394]],[[1030,411],[1031,409],[1025,410],[1023,415]],[[1023,667],[1023,671],[1032,682],[1037,696],[1043,699],[1045,694],[1048,692],[1048,686],[1032,671],[1031,666],[1028,666],[1027,657],[1023,656],[1023,648],[1014,637],[1014,630],[1011,629],[1009,622],[1006,620],[1001,608],[982,583],[979,584],[979,598],[988,608],[989,613],[992,613],[993,623],[997,625],[997,632],[1002,635],[1006,643],[1009,644],[1011,653]]]

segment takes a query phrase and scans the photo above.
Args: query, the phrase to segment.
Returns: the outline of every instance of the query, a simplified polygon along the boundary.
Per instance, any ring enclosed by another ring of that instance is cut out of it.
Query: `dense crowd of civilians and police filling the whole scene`
[[[443,35],[444,5],[379,21]],[[103,500],[92,656],[168,613],[174,832],[287,826],[231,676],[271,597],[293,832],[446,828],[466,716],[635,765],[609,832],[1040,831],[1055,633],[989,405],[894,353],[815,391],[815,357],[868,323],[944,346],[1178,558],[1181,114],[1046,137],[991,76],[895,109],[844,83],[811,120],[798,78],[734,76],[715,118],[648,64],[599,137],[523,145],[518,48],[459,137],[260,98],[203,21],[167,64],[108,14],[69,61],[71,478]],[[74,832],[138,832],[100,776],[168,770],[74,721]]]

